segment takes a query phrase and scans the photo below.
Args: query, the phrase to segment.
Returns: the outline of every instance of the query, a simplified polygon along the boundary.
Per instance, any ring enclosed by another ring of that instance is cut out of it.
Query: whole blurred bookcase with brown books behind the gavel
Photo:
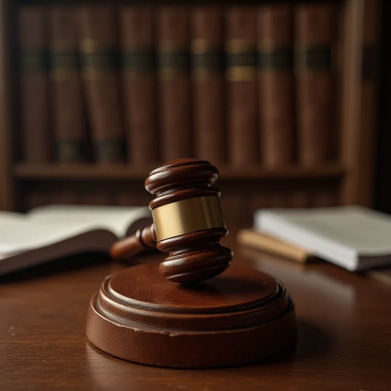
[[[0,0],[0,210],[147,205],[195,157],[229,221],[391,212],[390,2],[139,3]]]

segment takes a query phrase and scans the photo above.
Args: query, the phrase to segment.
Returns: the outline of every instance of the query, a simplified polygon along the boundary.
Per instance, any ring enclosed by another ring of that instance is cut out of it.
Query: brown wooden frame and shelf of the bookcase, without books
[[[137,4],[137,1],[116,2]],[[247,1],[249,4],[261,4],[261,2]],[[338,3],[340,11],[340,34],[336,48],[339,91],[336,129],[339,145],[338,161],[312,168],[302,168],[292,164],[273,170],[262,165],[252,165],[243,169],[219,166],[219,178],[224,182],[225,192],[229,192],[240,183],[248,194],[254,191],[254,195],[248,196],[246,198],[248,199],[256,197],[257,192],[267,191],[269,187],[275,192],[289,187],[300,188],[304,183],[305,186],[308,185],[308,189],[313,189],[316,185],[321,188],[330,186],[336,192],[339,204],[357,203],[367,206],[372,204],[377,106],[377,67],[374,54],[378,42],[380,0],[335,2]],[[126,181],[135,183],[142,190],[144,179],[155,167],[55,162],[30,164],[20,161],[14,22],[17,7],[25,3],[22,0],[0,0],[0,210],[23,210],[24,197],[29,189],[42,187],[45,191],[49,181],[71,183],[74,191],[77,191],[82,181],[83,186],[91,183],[92,191],[102,187],[103,183],[109,183],[113,189],[120,188],[120,184]],[[33,3],[58,4],[59,1],[45,0]],[[84,2],[62,0],[60,3],[82,4]],[[182,4],[202,4],[202,1],[184,1]],[[229,197],[234,199],[239,190],[233,189],[232,196]],[[232,202],[232,205],[237,204]]]

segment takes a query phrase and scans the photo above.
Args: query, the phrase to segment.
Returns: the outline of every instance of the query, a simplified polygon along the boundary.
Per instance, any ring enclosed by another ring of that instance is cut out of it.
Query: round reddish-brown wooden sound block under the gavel
[[[274,278],[244,267],[193,285],[157,265],[109,276],[91,299],[87,337],[125,360],[177,368],[240,365],[296,340],[294,304]]]

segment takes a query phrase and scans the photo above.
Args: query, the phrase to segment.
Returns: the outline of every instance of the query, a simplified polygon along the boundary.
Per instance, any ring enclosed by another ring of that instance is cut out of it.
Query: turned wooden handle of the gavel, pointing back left
[[[128,238],[116,241],[110,248],[110,257],[114,261],[126,261],[143,250],[156,247],[155,226],[141,228]]]

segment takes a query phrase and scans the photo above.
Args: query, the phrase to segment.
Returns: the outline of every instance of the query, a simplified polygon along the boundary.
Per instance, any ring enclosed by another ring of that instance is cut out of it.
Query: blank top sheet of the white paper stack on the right
[[[320,209],[263,209],[256,215],[279,219],[353,250],[359,256],[391,253],[391,217],[359,206]],[[258,220],[258,224],[257,224]]]

